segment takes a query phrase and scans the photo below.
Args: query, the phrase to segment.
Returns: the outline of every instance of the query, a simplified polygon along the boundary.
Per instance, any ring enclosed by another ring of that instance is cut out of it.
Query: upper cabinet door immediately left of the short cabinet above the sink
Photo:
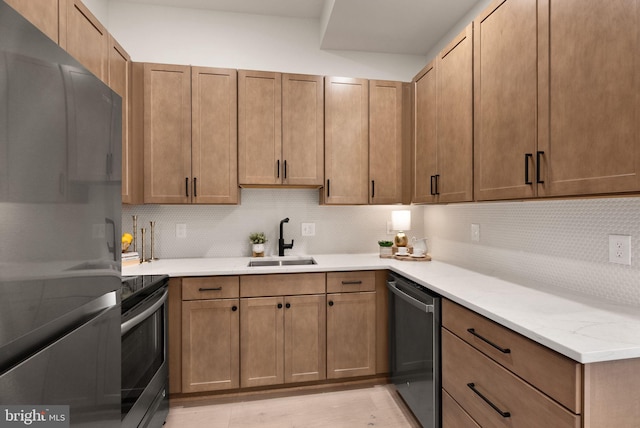
[[[237,72],[192,67],[193,202],[238,203]]]

